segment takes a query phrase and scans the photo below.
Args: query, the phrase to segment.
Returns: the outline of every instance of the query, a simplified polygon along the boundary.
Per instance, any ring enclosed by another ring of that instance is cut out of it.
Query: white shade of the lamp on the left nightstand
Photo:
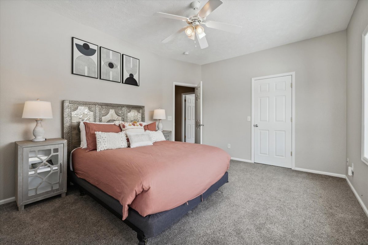
[[[24,103],[22,118],[52,118],[51,102],[28,100]]]

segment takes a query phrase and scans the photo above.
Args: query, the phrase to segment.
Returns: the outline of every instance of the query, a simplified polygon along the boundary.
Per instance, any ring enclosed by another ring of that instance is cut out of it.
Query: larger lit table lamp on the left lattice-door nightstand
[[[52,118],[51,102],[37,100],[28,100],[24,103],[22,118],[35,118],[36,127],[33,129],[32,141],[45,141],[43,138],[45,130],[42,127],[42,119]]]

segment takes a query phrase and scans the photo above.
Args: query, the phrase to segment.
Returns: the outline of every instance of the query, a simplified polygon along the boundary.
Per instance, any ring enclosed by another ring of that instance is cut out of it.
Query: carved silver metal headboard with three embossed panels
[[[68,141],[68,161],[70,152],[81,146],[79,123],[83,120],[96,123],[144,122],[144,106],[64,100],[64,139]]]

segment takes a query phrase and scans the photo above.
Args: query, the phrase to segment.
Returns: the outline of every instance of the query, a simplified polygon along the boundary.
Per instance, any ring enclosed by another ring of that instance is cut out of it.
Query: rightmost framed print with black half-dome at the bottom
[[[139,59],[123,54],[123,84],[139,86]]]

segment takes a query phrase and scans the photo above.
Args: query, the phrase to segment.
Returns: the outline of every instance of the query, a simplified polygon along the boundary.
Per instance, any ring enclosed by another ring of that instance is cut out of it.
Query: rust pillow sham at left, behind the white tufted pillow
[[[105,133],[119,133],[121,132],[120,126],[115,124],[96,124],[83,122],[86,129],[86,140],[87,140],[87,152],[91,150],[97,150],[96,134],[95,132]]]

